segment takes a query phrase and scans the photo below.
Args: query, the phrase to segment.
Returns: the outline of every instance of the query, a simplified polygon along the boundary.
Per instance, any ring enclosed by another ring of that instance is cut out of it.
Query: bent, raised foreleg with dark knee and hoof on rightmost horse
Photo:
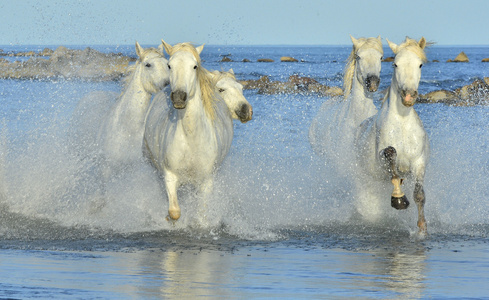
[[[396,158],[397,151],[394,147],[389,146],[380,152],[381,161],[384,162],[385,168],[391,174],[391,182],[394,187],[391,194],[391,206],[395,209],[406,209],[409,201],[401,189],[402,179],[397,172]]]

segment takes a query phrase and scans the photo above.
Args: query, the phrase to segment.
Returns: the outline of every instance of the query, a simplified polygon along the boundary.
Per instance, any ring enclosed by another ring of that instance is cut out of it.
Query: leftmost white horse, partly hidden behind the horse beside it
[[[125,79],[125,88],[102,124],[98,141],[109,166],[142,158],[144,122],[151,95],[169,83],[168,60],[163,49],[143,49]]]

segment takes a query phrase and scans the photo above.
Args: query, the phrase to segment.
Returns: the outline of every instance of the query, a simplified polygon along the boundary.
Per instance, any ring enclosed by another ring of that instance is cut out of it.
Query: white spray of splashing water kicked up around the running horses
[[[57,88],[50,102],[39,103],[45,117],[34,125],[3,126],[0,217],[10,220],[0,222],[4,238],[165,232],[169,239],[187,234],[211,240],[226,235],[275,240],[299,233],[416,231],[413,208],[398,212],[388,201],[382,221],[371,224],[355,215],[345,177],[325,165],[308,142],[310,122],[323,98],[247,92],[254,120],[235,123],[231,152],[209,199],[209,226],[203,228],[196,209],[200,199],[191,187],[180,190],[182,218],[166,221],[161,178],[143,159],[101,184],[104,165],[94,136],[117,93],[91,94],[91,100],[81,101],[86,87],[76,89],[75,97],[71,88]],[[27,98],[37,97],[35,91],[26,93]],[[487,236],[489,204],[480,197],[487,192],[489,171],[487,109],[419,105],[418,111],[432,145],[426,178],[430,233]]]

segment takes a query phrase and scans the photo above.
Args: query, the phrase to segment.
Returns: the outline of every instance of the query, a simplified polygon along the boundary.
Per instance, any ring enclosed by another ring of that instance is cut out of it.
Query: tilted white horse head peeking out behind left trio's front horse
[[[253,117],[253,107],[243,95],[243,85],[236,80],[233,69],[228,72],[212,71],[210,73],[216,82],[216,92],[224,100],[231,116],[241,123],[246,123]]]

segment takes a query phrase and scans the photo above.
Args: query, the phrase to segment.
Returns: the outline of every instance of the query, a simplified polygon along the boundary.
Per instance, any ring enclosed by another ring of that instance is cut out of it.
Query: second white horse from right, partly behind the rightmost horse
[[[373,92],[380,83],[382,40],[350,36],[353,43],[344,70],[343,101],[325,102],[309,128],[309,142],[327,163],[334,164],[339,172],[350,169],[354,162],[354,133],[365,119],[377,112]],[[351,155],[350,155],[351,154]]]

